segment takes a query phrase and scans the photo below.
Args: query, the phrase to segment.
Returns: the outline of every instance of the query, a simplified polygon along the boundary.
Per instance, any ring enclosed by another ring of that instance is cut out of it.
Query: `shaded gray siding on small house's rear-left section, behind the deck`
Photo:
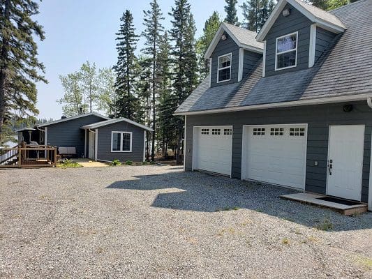
[[[84,130],[80,127],[103,121],[96,115],[88,115],[47,126],[47,144],[59,147],[75,147],[78,157],[84,155]]]

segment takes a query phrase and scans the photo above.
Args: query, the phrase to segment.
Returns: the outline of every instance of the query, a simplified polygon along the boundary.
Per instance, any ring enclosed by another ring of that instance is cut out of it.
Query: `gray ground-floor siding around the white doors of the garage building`
[[[329,125],[364,124],[366,131],[362,201],[366,202],[369,189],[372,110],[365,102],[355,103],[354,107],[355,109],[348,113],[343,112],[343,104],[331,104],[187,116],[186,170],[192,168],[193,126],[233,126],[232,177],[240,179],[243,125],[308,123],[306,190],[324,194],[327,180]],[[318,161],[318,167],[314,165],[315,160]]]

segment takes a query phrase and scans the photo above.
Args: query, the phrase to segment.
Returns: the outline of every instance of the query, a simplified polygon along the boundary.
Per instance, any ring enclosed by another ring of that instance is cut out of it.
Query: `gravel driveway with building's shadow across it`
[[[0,278],[372,278],[372,213],[291,192],[180,167],[0,170]]]

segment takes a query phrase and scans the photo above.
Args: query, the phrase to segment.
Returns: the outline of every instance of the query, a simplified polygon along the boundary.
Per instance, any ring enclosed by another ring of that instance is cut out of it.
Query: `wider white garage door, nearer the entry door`
[[[245,129],[244,179],[303,189],[306,126],[254,126]]]

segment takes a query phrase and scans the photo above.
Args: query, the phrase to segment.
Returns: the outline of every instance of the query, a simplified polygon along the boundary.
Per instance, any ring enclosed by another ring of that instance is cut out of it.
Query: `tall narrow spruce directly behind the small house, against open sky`
[[[135,96],[135,48],[138,36],[135,34],[133,16],[129,10],[123,13],[117,35],[117,65],[114,71],[117,75],[115,93],[117,101],[114,104],[117,115],[115,117],[126,117],[133,121],[139,121],[136,112],[139,110],[139,102]]]

